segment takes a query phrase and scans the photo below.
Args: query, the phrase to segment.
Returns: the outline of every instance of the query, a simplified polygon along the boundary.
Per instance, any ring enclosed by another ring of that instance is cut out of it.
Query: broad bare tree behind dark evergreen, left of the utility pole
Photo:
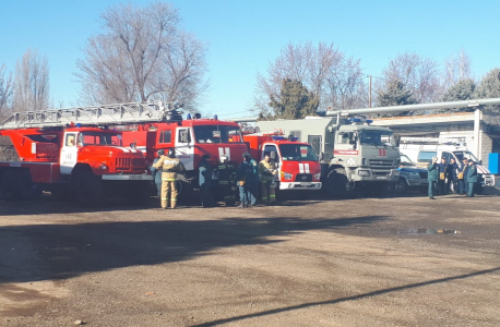
[[[299,81],[320,99],[319,110],[328,107],[353,108],[367,102],[359,60],[347,58],[333,44],[288,44],[273,63],[267,76],[258,74],[254,110],[264,116],[272,111],[269,104],[279,101],[283,81]]]

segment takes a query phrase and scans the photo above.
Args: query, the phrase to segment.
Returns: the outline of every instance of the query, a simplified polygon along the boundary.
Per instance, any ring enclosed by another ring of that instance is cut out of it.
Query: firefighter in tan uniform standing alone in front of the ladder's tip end
[[[156,169],[162,168],[162,208],[168,208],[168,196],[170,195],[170,207],[177,207],[177,174],[186,171],[184,166],[176,158],[175,149],[168,150],[168,156],[162,156],[154,165]]]

